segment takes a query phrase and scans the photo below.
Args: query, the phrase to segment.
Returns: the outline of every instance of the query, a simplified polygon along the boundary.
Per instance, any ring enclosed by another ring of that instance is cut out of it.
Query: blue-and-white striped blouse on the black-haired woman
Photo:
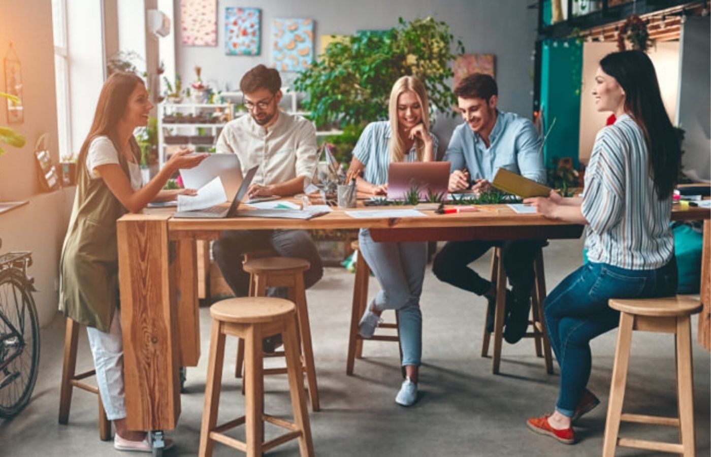
[[[657,269],[674,254],[671,196],[657,198],[642,129],[629,115],[597,134],[585,172],[582,215],[591,262]]]

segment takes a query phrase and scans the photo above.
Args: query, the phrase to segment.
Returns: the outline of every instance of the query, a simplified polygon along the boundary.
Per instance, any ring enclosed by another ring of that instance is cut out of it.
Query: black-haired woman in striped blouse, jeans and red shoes
[[[611,298],[675,294],[677,271],[669,228],[680,149],[651,60],[639,51],[600,60],[592,91],[614,124],[597,134],[582,198],[530,198],[538,213],[587,225],[589,263],[563,279],[545,300],[548,335],[560,366],[555,411],[528,427],[562,443],[575,441],[572,422],[599,404],[587,390],[589,342],[615,328]]]

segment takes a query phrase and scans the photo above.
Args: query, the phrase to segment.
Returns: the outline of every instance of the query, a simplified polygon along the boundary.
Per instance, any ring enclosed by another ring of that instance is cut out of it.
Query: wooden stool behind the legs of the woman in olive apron
[[[99,439],[107,441],[111,439],[111,421],[106,418],[104,404],[101,402],[101,395],[98,387],[82,382],[83,379],[96,374],[95,370],[75,374],[77,366],[77,345],[79,340],[80,324],[67,318],[67,330],[64,337],[64,367],[62,368],[62,384],[60,386],[59,399],[59,423],[68,424],[69,409],[72,406],[73,387],[92,392],[99,398]]]

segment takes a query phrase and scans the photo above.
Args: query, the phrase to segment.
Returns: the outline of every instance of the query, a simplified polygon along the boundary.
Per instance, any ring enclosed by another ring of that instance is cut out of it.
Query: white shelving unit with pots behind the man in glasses
[[[173,146],[173,144],[166,144],[166,129],[173,129],[175,135],[185,135],[188,136],[188,141],[181,143],[188,148],[209,148],[215,144],[218,139],[218,135],[223,127],[225,127],[225,122],[211,123],[211,122],[164,122],[166,115],[171,114],[182,114],[183,116],[187,114],[192,114],[193,116],[198,116],[199,114],[205,114],[208,112],[215,112],[215,109],[223,109],[228,113],[228,121],[232,119],[232,104],[231,103],[161,103],[158,109],[158,160],[159,166],[163,166],[166,161],[166,146]],[[198,135],[198,129],[207,129],[210,135],[213,136],[212,144],[192,144],[189,140],[191,136]]]

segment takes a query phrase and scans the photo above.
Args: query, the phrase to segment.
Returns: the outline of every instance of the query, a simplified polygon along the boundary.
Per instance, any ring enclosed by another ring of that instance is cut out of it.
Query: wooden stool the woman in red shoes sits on
[[[675,296],[664,299],[611,299],[609,306],[620,311],[620,328],[617,333],[617,348],[612,369],[602,455],[614,456],[615,447],[624,446],[693,456],[695,453],[694,382],[691,369],[690,316],[698,313],[702,304],[690,297]],[[678,417],[647,416],[622,412],[632,330],[673,333],[676,345]],[[621,421],[678,427],[681,443],[619,438]]]

